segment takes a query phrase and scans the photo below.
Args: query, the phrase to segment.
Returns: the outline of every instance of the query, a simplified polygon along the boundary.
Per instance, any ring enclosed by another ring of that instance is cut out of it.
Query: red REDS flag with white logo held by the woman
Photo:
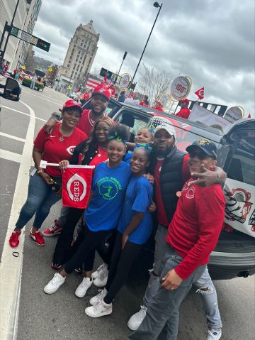
[[[62,175],[62,204],[64,207],[86,209],[91,190],[93,168],[69,167]]]

